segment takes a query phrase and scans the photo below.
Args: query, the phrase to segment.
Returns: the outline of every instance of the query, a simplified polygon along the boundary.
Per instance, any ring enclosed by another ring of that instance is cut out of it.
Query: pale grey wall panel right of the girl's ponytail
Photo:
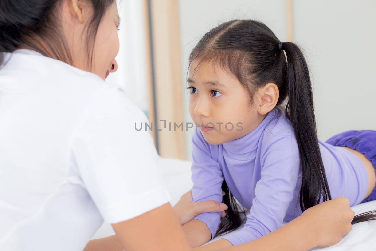
[[[376,2],[294,1],[314,84],[318,136],[376,130]]]

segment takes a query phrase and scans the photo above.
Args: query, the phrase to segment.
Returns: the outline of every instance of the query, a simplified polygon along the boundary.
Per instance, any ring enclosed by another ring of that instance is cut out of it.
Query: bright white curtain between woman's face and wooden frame
[[[147,62],[145,48],[144,1],[117,0],[120,16],[120,49],[116,56],[119,68],[106,81],[124,87],[138,108],[148,112]]]

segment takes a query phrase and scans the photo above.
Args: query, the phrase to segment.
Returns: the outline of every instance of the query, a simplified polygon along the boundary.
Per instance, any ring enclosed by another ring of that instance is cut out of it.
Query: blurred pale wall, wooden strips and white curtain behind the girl
[[[153,122],[162,157],[191,160],[188,56],[210,29],[239,18],[262,21],[305,51],[320,140],[376,129],[374,0],[122,0],[119,12],[119,70],[106,81],[125,87]]]

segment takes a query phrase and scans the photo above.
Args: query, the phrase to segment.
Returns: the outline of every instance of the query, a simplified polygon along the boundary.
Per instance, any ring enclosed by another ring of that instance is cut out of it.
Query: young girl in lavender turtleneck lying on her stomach
[[[376,199],[376,131],[318,140],[303,53],[265,24],[234,20],[206,33],[191,52],[188,84],[199,129],[193,200],[229,205],[222,222],[220,213],[202,213],[184,225],[192,246],[241,225],[233,197],[250,210],[244,228],[203,248],[257,239],[338,196],[351,206]]]

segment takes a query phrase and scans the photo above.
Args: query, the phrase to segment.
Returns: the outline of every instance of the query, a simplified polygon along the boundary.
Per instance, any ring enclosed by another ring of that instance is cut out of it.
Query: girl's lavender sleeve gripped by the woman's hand
[[[219,163],[211,157],[209,144],[200,131],[195,131],[192,137],[192,158],[193,201],[222,202],[222,170]],[[201,213],[193,219],[204,222],[213,238],[221,222],[221,213]]]

